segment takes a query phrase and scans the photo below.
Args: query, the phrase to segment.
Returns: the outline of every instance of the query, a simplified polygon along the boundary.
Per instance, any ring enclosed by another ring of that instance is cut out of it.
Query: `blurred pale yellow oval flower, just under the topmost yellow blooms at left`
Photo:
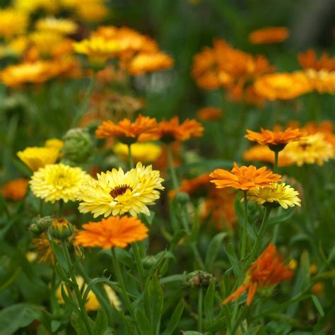
[[[69,35],[76,33],[78,25],[73,20],[50,16],[48,18],[40,18],[40,20],[37,20],[35,28],[50,33]]]

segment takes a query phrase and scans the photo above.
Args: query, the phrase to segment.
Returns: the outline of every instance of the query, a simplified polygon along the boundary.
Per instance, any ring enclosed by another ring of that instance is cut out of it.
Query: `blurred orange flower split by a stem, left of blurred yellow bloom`
[[[243,160],[247,162],[264,162],[274,164],[274,151],[271,151],[269,146],[252,146],[243,153]],[[278,166],[292,165],[292,161],[284,156],[278,156]]]

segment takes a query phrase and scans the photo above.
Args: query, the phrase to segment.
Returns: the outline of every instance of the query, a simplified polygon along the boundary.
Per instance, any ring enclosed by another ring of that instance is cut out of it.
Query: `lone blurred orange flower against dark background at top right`
[[[288,39],[290,32],[285,27],[266,27],[249,33],[249,41],[253,45],[264,45],[283,42]]]

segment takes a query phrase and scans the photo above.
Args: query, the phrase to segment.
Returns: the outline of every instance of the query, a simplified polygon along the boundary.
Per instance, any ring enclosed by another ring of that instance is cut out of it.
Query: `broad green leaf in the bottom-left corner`
[[[12,335],[37,319],[42,319],[42,309],[36,305],[22,303],[6,307],[0,312],[0,334]]]

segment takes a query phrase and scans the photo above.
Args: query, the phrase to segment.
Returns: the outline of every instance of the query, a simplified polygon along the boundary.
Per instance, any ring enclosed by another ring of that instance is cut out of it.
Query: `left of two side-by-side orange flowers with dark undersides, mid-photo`
[[[95,136],[98,139],[117,137],[121,142],[134,143],[136,141],[145,141],[146,139],[144,138],[146,136],[150,137],[150,134],[156,129],[157,123],[155,119],[143,117],[143,115],[139,114],[139,117],[134,122],[127,118],[117,124],[110,120],[104,121],[95,131]]]

